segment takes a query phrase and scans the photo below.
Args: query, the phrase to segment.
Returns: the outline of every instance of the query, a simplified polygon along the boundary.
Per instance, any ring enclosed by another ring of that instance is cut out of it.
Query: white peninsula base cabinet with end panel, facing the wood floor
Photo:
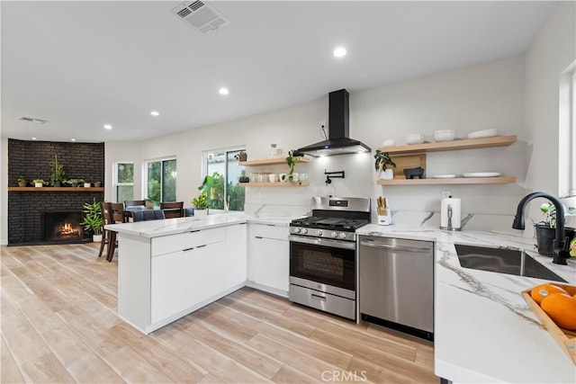
[[[119,316],[148,334],[244,286],[246,227],[153,238],[120,233]]]

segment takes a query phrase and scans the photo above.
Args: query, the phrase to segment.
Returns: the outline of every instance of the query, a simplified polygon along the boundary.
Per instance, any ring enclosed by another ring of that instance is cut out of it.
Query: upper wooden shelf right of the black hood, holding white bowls
[[[414,155],[426,152],[450,151],[457,149],[475,149],[488,147],[507,147],[517,140],[515,136],[494,136],[492,138],[463,138],[435,143],[410,144],[398,147],[380,147],[381,152],[391,155]]]

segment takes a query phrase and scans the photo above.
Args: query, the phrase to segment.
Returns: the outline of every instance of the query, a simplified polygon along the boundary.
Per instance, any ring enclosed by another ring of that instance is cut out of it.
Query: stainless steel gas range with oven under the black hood
[[[370,199],[312,198],[312,216],[290,223],[293,302],[356,319],[356,229],[370,223]]]

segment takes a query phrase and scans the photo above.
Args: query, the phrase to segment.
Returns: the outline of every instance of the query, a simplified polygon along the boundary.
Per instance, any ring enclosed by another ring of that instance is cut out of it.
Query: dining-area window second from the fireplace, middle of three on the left
[[[176,159],[149,160],[145,163],[144,195],[151,201],[176,201]]]

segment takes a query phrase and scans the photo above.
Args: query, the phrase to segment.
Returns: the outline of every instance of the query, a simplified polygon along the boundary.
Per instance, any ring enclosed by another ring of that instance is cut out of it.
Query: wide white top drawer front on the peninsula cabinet
[[[219,243],[226,239],[226,228],[202,229],[177,235],[154,237],[152,239],[152,257],[165,255],[196,246]]]

